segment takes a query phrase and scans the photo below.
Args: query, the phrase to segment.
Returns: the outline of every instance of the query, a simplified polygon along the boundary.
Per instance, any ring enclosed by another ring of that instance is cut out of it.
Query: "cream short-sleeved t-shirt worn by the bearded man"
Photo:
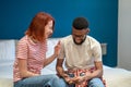
[[[67,69],[90,69],[94,61],[102,61],[100,44],[91,36],[82,45],[75,45],[72,35],[60,41],[62,49],[58,59],[66,59]]]

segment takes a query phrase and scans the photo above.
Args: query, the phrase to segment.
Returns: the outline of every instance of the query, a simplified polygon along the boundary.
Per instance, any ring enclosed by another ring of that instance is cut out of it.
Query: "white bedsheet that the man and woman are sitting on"
[[[46,66],[41,74],[56,74],[56,61]],[[0,63],[0,87],[13,87],[13,61]],[[131,87],[131,71],[104,65],[104,78],[107,87]]]

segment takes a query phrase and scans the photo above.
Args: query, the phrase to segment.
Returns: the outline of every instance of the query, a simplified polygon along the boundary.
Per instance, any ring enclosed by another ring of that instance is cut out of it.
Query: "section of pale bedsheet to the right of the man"
[[[104,67],[104,78],[108,87],[131,87],[131,71]]]

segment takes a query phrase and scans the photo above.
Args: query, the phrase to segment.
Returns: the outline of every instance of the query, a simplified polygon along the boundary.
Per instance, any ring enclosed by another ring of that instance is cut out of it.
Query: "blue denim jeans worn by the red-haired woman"
[[[61,80],[57,75],[50,74],[21,79],[14,83],[14,87],[66,87],[66,86],[63,80]]]

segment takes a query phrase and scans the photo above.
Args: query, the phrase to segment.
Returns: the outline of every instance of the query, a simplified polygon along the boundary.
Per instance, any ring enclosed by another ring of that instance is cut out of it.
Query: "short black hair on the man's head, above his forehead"
[[[88,22],[85,17],[76,17],[74,18],[72,26],[75,29],[86,29],[88,27]]]

